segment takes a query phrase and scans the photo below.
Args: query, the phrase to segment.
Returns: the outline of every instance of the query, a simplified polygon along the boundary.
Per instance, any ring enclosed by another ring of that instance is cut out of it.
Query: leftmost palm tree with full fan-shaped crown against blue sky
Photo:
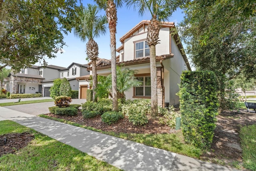
[[[96,5],[88,4],[87,8],[78,11],[79,23],[74,29],[74,33],[82,41],[86,43],[87,59],[92,60],[92,100],[97,101],[96,87],[97,87],[97,71],[96,61],[99,55],[98,44],[94,38],[101,34],[106,34],[106,24],[108,23],[106,16],[97,16],[100,8]]]

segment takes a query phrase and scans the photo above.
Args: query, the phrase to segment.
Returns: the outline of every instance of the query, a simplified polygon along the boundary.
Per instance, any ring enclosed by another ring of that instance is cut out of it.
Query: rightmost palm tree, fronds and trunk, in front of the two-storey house
[[[139,15],[143,16],[147,11],[152,18],[148,25],[146,43],[150,47],[150,77],[151,77],[151,116],[158,114],[157,107],[157,80],[156,80],[156,44],[159,43],[159,31],[161,21],[166,20],[175,9],[170,7],[171,0],[126,0],[127,6],[138,9]],[[173,4],[171,5],[173,6]]]

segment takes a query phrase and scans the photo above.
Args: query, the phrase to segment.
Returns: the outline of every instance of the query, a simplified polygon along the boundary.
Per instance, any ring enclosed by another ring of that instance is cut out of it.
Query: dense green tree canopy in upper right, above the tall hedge
[[[256,3],[194,0],[184,6],[181,38],[196,68],[256,77]]]

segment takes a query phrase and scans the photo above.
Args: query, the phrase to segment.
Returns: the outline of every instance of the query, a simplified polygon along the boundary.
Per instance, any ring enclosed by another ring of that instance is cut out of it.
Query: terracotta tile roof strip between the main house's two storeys
[[[156,61],[166,60],[166,59],[173,58],[173,57],[174,57],[174,54],[166,54],[166,55],[156,56]],[[130,61],[116,62],[116,65],[124,64],[124,66],[130,66],[130,65],[145,64],[145,63],[150,63],[150,57],[136,58],[136,59],[130,60]],[[110,63],[102,63],[101,65],[97,66],[97,70],[102,70],[102,69],[106,69],[106,68],[110,68],[110,67],[111,67],[111,62]],[[87,70],[92,70],[92,67],[87,68]]]

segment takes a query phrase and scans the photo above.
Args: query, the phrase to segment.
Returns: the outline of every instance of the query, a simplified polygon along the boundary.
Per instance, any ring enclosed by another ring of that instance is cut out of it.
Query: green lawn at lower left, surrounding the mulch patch
[[[90,170],[119,171],[120,169],[87,155],[69,145],[60,143],[33,129],[13,121],[0,121],[0,135],[30,132],[34,140],[15,154],[0,157],[0,170]]]

